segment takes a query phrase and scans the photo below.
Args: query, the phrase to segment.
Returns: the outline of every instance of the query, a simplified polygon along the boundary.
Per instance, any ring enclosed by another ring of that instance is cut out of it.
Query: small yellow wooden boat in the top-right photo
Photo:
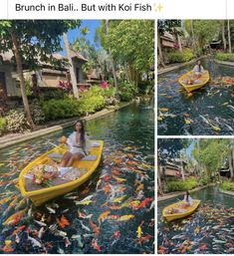
[[[189,71],[178,79],[178,83],[186,90],[188,94],[192,91],[204,87],[210,80],[210,75],[208,71],[204,71],[203,73],[201,73],[201,76],[199,78],[195,78],[194,76],[194,72]]]

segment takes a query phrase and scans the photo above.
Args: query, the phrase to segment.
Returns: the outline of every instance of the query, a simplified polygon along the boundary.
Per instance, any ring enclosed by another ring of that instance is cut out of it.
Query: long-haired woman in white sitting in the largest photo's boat
[[[91,141],[82,121],[76,122],[75,131],[68,137],[67,144],[70,149],[63,155],[59,164],[61,167],[72,166],[75,160],[85,157],[91,148]]]

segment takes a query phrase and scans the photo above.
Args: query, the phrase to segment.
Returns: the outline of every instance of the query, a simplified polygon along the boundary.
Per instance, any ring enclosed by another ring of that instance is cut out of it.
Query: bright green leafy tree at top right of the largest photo
[[[126,69],[130,82],[137,82],[154,65],[154,22],[147,20],[111,20],[107,37],[106,23],[98,34],[102,46],[112,51],[119,68]]]

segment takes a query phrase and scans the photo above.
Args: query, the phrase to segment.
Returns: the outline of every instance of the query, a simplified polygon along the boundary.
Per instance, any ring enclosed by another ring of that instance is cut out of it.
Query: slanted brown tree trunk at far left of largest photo
[[[18,41],[14,32],[11,33],[11,39],[13,43],[13,53],[16,59],[17,73],[20,78],[20,91],[21,91],[21,96],[23,100],[24,111],[26,113],[26,118],[27,118],[27,121],[29,122],[30,127],[32,128],[32,130],[34,130],[36,129],[36,127],[33,123],[33,119],[29,109],[29,102],[26,95],[25,79],[23,74],[23,66],[22,66],[21,56],[19,52]]]

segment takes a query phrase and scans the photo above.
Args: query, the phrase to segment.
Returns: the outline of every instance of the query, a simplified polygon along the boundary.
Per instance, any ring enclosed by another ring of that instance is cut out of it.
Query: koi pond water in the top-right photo
[[[211,81],[189,96],[178,84],[178,78],[193,66],[158,76],[158,121],[160,135],[215,135],[234,133],[234,85],[224,85],[221,77],[234,78],[234,67],[216,64],[212,58],[203,59]]]

